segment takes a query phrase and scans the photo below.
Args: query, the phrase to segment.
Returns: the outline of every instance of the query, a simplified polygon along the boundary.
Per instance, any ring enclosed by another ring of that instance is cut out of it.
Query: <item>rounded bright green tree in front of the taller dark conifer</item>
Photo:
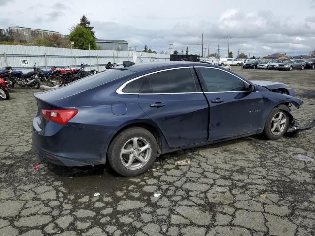
[[[95,38],[91,35],[91,31],[82,26],[77,26],[69,35],[69,40],[74,42],[74,48],[77,49],[90,49],[96,50],[97,46]]]

